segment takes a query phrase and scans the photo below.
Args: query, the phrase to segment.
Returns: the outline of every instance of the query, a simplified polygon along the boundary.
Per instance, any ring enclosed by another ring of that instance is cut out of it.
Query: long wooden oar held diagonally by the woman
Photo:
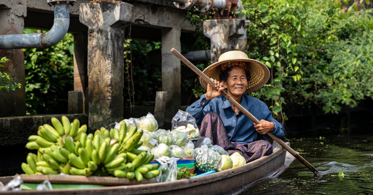
[[[171,49],[171,52],[173,55],[175,55],[177,58],[179,58],[184,64],[186,64],[192,71],[194,71],[198,76],[203,78],[204,81],[210,84],[210,86],[214,86],[214,82],[211,81],[209,77],[206,76],[200,69],[195,67],[191,62],[189,62],[188,59],[186,59],[181,53],[178,52],[175,48]],[[222,95],[231,102],[236,108],[238,108],[242,113],[244,113],[250,120],[252,120],[255,124],[260,124],[260,121],[255,118],[247,109],[245,109],[241,104],[239,104],[236,100],[234,100],[231,96],[228,95],[227,92],[222,90]],[[288,145],[285,144],[280,138],[272,134],[271,132],[267,133],[273,140],[275,140],[277,143],[279,143],[283,148],[285,148],[290,154],[292,154],[295,158],[297,158],[302,164],[304,164],[307,168],[309,168],[314,174],[318,174],[319,171],[313,167],[310,163],[308,163],[307,160],[305,160],[301,155],[299,155],[297,152],[295,152],[292,148],[290,148]]]

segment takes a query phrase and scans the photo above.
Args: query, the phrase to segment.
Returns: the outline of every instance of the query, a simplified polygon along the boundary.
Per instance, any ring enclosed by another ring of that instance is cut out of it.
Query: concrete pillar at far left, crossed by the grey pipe
[[[0,34],[23,34],[26,10],[26,0],[0,1]],[[3,64],[5,67],[0,68],[0,71],[9,74],[22,87],[15,91],[0,92],[0,117],[25,115],[25,57],[21,49],[0,50],[0,58],[2,57],[10,61]]]

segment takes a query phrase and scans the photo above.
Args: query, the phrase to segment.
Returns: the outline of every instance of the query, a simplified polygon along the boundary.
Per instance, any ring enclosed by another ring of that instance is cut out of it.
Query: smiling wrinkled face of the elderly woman
[[[228,73],[228,79],[223,81],[223,85],[227,88],[227,93],[231,96],[241,97],[247,87],[247,78],[244,68],[235,66]]]

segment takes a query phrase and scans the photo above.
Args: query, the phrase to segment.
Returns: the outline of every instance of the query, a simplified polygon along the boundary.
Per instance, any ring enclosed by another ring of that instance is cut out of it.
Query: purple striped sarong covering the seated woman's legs
[[[257,140],[247,144],[231,142],[223,121],[216,112],[207,112],[201,122],[200,135],[211,137],[212,144],[221,146],[229,155],[239,152],[247,163],[272,154],[272,145],[266,140]]]

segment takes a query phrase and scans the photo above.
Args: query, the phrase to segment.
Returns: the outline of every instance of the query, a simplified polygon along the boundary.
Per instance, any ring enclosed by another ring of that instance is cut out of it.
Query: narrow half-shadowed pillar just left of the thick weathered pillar
[[[83,112],[85,113],[85,88],[87,87],[87,36],[74,33],[74,91],[83,93]],[[88,114],[88,113],[87,113]]]

